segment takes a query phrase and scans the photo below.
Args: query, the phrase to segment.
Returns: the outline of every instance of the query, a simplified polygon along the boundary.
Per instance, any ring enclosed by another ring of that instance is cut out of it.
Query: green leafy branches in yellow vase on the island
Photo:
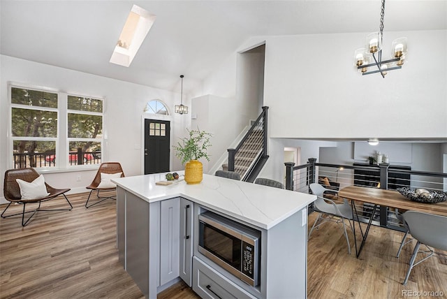
[[[210,161],[207,149],[211,147],[210,138],[211,133],[205,131],[189,130],[188,137],[181,138],[181,140],[174,145],[176,151],[175,155],[185,164],[184,180],[187,184],[198,184],[203,179],[203,164],[198,161],[200,158],[205,158]]]

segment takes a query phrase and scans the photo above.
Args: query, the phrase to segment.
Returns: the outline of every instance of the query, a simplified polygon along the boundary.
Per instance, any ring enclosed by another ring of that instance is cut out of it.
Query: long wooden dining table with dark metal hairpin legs
[[[365,245],[367,235],[369,233],[369,228],[371,227],[372,219],[374,218],[374,213],[378,205],[381,207],[394,207],[400,210],[412,210],[418,212],[425,212],[429,214],[447,216],[447,201],[444,201],[442,203],[421,203],[418,201],[409,200],[408,198],[400,194],[398,191],[394,190],[349,186],[338,191],[338,196],[341,198],[351,200],[351,207],[353,209],[353,219],[352,219],[353,233],[354,233],[354,242],[356,244],[357,257],[360,255],[360,252],[362,251],[363,246]],[[356,210],[356,205],[354,205],[354,201],[371,203],[374,205],[371,216],[368,219],[368,224],[365,233],[362,230],[362,226],[360,226],[360,219],[358,217],[358,212]],[[360,233],[362,234],[362,243],[359,249],[357,248],[356,226],[355,226],[356,220],[360,228]]]

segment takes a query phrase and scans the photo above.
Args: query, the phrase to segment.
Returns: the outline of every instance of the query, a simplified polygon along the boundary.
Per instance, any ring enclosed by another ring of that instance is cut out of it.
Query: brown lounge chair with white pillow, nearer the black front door
[[[93,182],[91,182],[91,184],[86,187],[87,189],[90,189],[90,194],[89,198],[87,198],[87,201],[85,202],[85,207],[89,208],[92,205],[102,203],[106,199],[116,200],[117,199],[116,196],[100,196],[100,192],[116,190],[117,185],[110,182],[110,179],[117,177],[124,177],[124,171],[120,163],[118,162],[101,163],[101,166],[99,166]],[[96,191],[97,200],[94,203],[91,203],[91,205],[89,205],[90,196],[91,193],[93,193],[93,191]]]

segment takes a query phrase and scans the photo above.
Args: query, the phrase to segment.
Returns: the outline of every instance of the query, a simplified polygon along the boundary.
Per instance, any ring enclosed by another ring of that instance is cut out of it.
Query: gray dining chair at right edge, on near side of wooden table
[[[404,212],[404,221],[408,225],[409,233],[418,241],[414,247],[410,265],[406,272],[404,282],[402,283],[406,286],[411,269],[434,254],[434,251],[430,247],[447,250],[447,217],[424,212],[406,211]],[[421,244],[425,245],[428,251],[419,251]],[[414,263],[418,252],[430,252],[430,254],[417,263]]]

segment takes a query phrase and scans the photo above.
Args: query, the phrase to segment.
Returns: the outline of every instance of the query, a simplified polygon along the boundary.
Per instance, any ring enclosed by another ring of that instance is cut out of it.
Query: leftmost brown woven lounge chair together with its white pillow
[[[5,180],[3,184],[3,195],[5,199],[10,203],[6,206],[5,210],[1,213],[2,218],[13,217],[22,214],[22,226],[26,226],[31,217],[36,214],[36,212],[49,212],[49,211],[70,211],[73,209],[70,201],[66,197],[65,193],[70,191],[70,189],[56,189],[51,187],[45,182],[43,175],[39,175],[34,168],[17,168],[6,170]],[[57,196],[62,195],[66,199],[68,205],[67,209],[52,209],[43,210],[41,209],[41,203],[43,201],[51,200],[57,198]],[[23,205],[23,211],[17,214],[10,214],[4,216],[6,210],[11,205],[11,203],[17,203]],[[35,210],[26,211],[25,207],[29,203],[38,203],[38,207]],[[33,213],[25,221],[25,214]]]

